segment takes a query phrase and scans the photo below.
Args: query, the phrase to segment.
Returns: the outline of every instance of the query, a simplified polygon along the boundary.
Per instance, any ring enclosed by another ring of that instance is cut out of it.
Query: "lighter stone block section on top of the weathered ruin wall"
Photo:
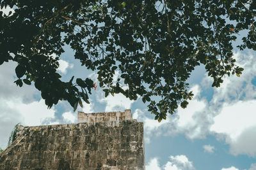
[[[102,113],[84,113],[82,111],[77,112],[78,123],[90,123],[90,122],[120,122],[122,120],[132,120],[131,110],[125,110],[124,112],[102,112]]]

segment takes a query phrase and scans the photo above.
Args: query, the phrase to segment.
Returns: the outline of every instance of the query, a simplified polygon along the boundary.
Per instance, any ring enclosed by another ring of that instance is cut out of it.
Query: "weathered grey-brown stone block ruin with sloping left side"
[[[145,169],[143,122],[131,110],[78,112],[78,124],[20,127],[0,169]]]

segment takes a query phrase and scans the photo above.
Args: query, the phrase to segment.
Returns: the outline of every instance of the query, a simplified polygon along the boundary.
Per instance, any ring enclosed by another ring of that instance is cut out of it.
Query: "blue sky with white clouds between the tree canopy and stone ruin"
[[[9,9],[10,10],[10,9]],[[4,11],[8,11],[5,9]],[[98,84],[85,113],[124,111],[144,124],[146,170],[255,170],[256,169],[256,52],[234,50],[241,77],[225,77],[219,88],[204,66],[196,67],[188,82],[195,96],[186,109],[178,108],[161,123],[147,111],[141,99],[129,101],[122,94],[104,97],[97,73],[86,70],[65,46],[58,73],[63,81],[92,78]],[[17,87],[15,62],[0,66],[0,147],[6,148],[15,124],[52,125],[77,122],[77,111],[61,101],[47,109],[33,85]],[[116,71],[115,79],[119,73]]]

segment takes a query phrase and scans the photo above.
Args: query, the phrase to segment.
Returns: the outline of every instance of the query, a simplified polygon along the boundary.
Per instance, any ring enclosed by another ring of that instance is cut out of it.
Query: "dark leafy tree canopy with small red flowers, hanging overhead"
[[[60,80],[64,45],[97,71],[105,96],[141,97],[159,121],[178,104],[186,108],[193,97],[186,80],[196,66],[204,64],[212,87],[241,74],[232,57],[239,32],[248,34],[237,47],[256,50],[255,0],[1,0],[4,6],[15,12],[0,13],[0,64],[17,62],[15,83],[35,82],[49,108],[64,100],[76,110],[93,87],[90,78]]]

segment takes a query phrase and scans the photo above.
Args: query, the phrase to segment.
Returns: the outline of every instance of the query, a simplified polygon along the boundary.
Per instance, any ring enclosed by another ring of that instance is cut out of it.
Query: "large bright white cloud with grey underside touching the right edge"
[[[238,101],[225,104],[220,115],[214,117],[212,132],[223,136],[230,145],[230,152],[234,155],[256,154],[256,101]]]

